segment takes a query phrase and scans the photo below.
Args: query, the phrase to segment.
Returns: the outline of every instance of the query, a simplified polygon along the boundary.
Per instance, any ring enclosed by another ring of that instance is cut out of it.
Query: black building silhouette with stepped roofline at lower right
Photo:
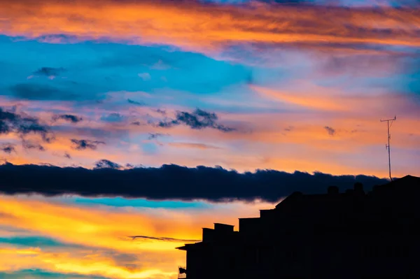
[[[204,228],[179,278],[420,278],[420,178],[365,193],[294,192],[260,217]]]

